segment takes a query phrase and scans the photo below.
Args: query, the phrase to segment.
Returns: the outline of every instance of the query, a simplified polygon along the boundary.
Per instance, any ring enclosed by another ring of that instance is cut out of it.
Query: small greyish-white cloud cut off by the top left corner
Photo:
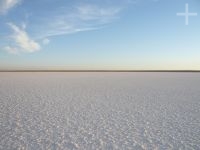
[[[7,13],[11,8],[19,4],[21,0],[1,0],[0,1],[0,14]]]

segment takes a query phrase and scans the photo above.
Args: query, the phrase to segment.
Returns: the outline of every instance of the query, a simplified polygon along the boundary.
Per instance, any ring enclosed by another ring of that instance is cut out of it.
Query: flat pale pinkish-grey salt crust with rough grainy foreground
[[[200,149],[199,73],[0,73],[0,149]]]

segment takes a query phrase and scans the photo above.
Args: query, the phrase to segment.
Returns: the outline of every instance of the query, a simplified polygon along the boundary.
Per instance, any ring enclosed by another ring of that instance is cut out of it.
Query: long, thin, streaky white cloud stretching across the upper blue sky
[[[99,29],[102,25],[108,24],[117,18],[122,10],[120,7],[100,7],[91,4],[74,6],[72,10],[61,9],[51,12],[50,19],[38,18],[34,32],[37,38],[47,38],[63,34],[72,34],[82,31]],[[41,16],[42,18],[47,18]],[[53,21],[52,21],[53,20]]]

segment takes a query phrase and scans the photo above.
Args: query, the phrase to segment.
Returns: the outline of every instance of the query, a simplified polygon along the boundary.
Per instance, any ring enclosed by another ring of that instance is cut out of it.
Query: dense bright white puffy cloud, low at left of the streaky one
[[[11,40],[14,44],[12,44],[12,46],[6,46],[5,50],[10,53],[32,53],[40,50],[39,43],[32,40],[23,28],[20,28],[13,23],[8,23],[8,26],[13,30]]]

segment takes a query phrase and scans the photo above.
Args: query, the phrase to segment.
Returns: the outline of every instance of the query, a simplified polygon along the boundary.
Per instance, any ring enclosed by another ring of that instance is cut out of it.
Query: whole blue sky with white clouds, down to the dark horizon
[[[0,70],[200,70],[199,27],[199,0],[0,0]]]

